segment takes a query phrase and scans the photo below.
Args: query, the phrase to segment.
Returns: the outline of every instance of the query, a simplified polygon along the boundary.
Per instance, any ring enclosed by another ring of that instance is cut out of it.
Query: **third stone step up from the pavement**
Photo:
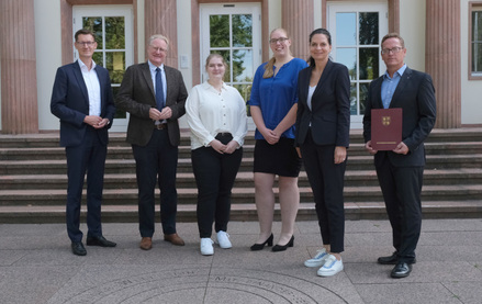
[[[178,189],[197,188],[194,174],[179,172],[177,174]],[[301,171],[299,187],[310,187],[306,172]],[[345,187],[378,185],[374,170],[348,170],[345,174]],[[481,168],[463,169],[431,169],[424,172],[424,184],[482,184]],[[234,188],[254,188],[254,174],[250,171],[238,172]],[[136,189],[135,173],[105,174],[104,189]],[[25,189],[67,189],[66,174],[20,174],[1,176],[0,190]]]

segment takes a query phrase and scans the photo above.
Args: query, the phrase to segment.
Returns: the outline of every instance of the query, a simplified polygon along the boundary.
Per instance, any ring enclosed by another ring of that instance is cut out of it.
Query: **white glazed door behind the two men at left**
[[[74,34],[80,29],[96,34],[98,46],[93,60],[109,70],[115,97],[125,69],[134,64],[132,5],[75,5],[72,15]],[[75,48],[74,58],[78,59]],[[110,131],[126,132],[127,115],[117,110]]]

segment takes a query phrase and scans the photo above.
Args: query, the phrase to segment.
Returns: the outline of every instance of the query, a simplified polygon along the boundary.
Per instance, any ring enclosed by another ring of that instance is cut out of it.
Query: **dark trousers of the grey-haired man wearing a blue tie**
[[[156,180],[160,189],[160,222],[166,235],[176,233],[178,192],[176,171],[178,147],[169,142],[167,130],[154,130],[145,146],[132,145],[138,187],[138,216],[142,237],[153,237]]]

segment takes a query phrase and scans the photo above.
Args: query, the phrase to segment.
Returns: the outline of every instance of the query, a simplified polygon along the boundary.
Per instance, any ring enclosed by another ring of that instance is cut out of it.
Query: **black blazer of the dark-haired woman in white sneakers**
[[[312,67],[300,71],[298,78],[298,113],[295,143],[302,145],[312,130],[316,145],[348,147],[350,132],[350,79],[346,66],[328,60],[312,97],[307,94]]]

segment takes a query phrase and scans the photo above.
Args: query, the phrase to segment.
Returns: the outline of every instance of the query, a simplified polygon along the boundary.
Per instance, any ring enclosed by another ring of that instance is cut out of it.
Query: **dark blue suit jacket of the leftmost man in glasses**
[[[110,124],[98,130],[97,134],[103,144],[109,143],[108,130],[112,126],[115,105],[112,94],[109,71],[96,66],[100,82],[101,114]],[[51,112],[60,119],[60,146],[75,147],[82,144],[88,125],[83,119],[89,115],[89,95],[78,61],[57,69],[51,100]]]

